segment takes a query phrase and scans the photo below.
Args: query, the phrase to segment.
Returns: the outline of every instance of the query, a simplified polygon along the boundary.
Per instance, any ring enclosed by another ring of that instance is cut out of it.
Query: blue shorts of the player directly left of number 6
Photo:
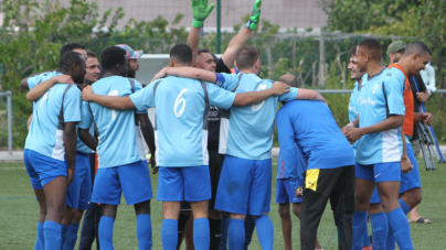
[[[119,205],[121,192],[127,205],[153,198],[149,169],[144,162],[97,170],[92,203]]]

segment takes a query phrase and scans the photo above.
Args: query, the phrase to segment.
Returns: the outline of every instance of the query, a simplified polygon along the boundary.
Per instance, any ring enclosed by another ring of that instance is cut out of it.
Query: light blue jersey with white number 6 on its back
[[[157,108],[157,163],[163,167],[209,165],[209,107],[231,108],[235,94],[214,84],[169,76],[130,96],[138,110]]]

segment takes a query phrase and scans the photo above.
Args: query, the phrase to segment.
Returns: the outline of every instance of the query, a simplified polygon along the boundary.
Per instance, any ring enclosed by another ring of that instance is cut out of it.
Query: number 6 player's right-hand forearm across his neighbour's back
[[[285,93],[289,93],[289,86],[280,81],[276,81],[269,89],[235,95],[235,99],[232,106],[255,105],[272,96],[280,96]]]

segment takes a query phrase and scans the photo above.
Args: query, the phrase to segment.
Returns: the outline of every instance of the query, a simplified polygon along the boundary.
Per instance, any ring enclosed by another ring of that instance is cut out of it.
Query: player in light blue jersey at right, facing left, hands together
[[[355,208],[352,249],[362,249],[367,227],[367,209],[374,186],[384,206],[400,249],[413,249],[407,219],[399,204],[402,161],[400,127],[404,123],[404,75],[385,69],[378,41],[362,41],[357,51],[362,77],[359,116],[347,127],[350,142],[358,140],[355,162]]]

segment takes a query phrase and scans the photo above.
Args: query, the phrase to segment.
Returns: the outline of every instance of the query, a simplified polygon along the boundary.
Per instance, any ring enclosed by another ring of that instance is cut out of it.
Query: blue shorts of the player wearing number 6
[[[211,199],[209,166],[159,167],[158,200],[202,202]]]

